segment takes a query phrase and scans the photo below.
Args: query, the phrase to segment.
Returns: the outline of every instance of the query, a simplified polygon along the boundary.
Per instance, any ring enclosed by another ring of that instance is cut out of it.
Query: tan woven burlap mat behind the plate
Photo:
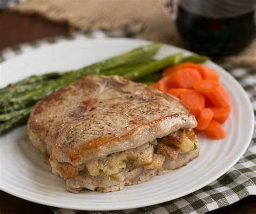
[[[25,0],[11,10],[38,13],[54,22],[65,21],[84,32],[105,30],[110,35],[143,38],[184,47],[176,27],[164,13],[167,0]],[[223,59],[234,65],[256,65],[256,39],[242,53]]]

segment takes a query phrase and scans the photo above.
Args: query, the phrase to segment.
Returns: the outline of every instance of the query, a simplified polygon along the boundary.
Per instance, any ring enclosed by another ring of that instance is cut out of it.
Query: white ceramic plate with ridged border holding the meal
[[[32,74],[79,68],[149,43],[134,39],[93,40],[78,38],[44,46],[5,61],[1,65],[1,85]],[[165,45],[158,57],[183,51]],[[0,187],[12,195],[32,202],[79,210],[117,210],[166,202],[196,191],[227,172],[244,154],[253,132],[253,111],[245,91],[224,69],[207,62],[220,75],[232,98],[232,112],[224,124],[227,137],[214,141],[200,136],[199,158],[187,166],[122,191],[97,193],[81,191],[72,194],[65,182],[51,173],[43,156],[26,138],[26,127],[20,127],[0,138]]]

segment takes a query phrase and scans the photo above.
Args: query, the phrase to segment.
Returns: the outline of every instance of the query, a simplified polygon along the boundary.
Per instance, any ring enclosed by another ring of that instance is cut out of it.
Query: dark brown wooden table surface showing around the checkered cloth
[[[1,1],[1,0],[0,0]],[[0,11],[0,51],[1,49],[57,35],[68,35],[75,31],[67,23],[52,23],[37,15],[22,15],[16,12]],[[0,191],[0,213],[53,213],[48,206],[25,201]],[[256,213],[256,196],[249,196],[225,208],[209,212],[216,213]]]

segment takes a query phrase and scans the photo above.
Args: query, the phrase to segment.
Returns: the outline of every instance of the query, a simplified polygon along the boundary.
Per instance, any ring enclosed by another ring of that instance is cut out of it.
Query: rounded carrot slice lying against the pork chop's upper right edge
[[[200,111],[205,107],[204,96],[197,91],[187,91],[181,93],[181,102],[191,111],[194,115],[199,115]]]

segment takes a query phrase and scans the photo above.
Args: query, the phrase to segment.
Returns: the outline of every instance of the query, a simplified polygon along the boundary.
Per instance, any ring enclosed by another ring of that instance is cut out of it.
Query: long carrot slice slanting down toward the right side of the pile
[[[230,96],[217,81],[201,80],[194,83],[193,88],[207,96],[215,107],[230,105]]]

